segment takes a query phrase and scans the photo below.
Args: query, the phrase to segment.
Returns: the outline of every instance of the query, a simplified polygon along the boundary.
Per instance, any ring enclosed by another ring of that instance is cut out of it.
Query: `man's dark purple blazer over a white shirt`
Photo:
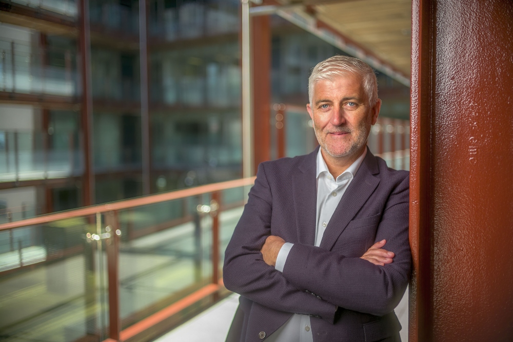
[[[241,294],[229,338],[265,340],[300,313],[310,315],[314,342],[400,340],[393,309],[411,269],[408,172],[367,151],[315,247],[318,150],[259,165],[225,254],[224,285]],[[294,244],[283,273],[260,253],[269,235]],[[360,258],[382,239],[396,254],[391,264]]]

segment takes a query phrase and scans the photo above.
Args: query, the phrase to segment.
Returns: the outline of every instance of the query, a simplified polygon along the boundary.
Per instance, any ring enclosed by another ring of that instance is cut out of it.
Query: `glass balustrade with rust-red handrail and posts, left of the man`
[[[128,327],[147,329],[163,312],[175,324],[201,312],[229,293],[220,286],[224,251],[252,182],[19,223],[10,223],[0,208],[0,335],[8,341],[99,342],[119,339],[120,331],[122,338],[135,337]]]

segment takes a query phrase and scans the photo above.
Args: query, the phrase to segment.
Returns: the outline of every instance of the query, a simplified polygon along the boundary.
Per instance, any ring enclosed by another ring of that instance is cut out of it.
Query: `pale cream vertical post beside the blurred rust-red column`
[[[249,0],[241,0],[242,9],[242,173],[253,174],[253,113],[251,111],[251,58]]]

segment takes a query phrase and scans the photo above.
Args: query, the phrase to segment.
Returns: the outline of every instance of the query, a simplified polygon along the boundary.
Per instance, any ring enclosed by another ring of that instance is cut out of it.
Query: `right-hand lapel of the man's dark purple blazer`
[[[363,207],[367,199],[374,192],[380,183],[380,179],[374,174],[379,173],[376,157],[367,148],[367,155],[358,169],[351,184],[347,187],[342,199],[333,212],[328,226],[324,231],[320,247],[331,250],[340,234],[344,231],[349,222]],[[315,204],[317,206],[317,204]]]

